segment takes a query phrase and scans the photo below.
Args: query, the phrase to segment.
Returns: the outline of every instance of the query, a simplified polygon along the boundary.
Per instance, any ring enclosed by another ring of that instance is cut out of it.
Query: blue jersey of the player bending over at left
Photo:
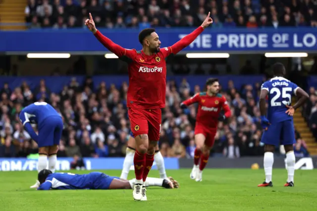
[[[19,118],[23,125],[27,122],[39,125],[49,116],[60,115],[50,104],[45,102],[36,102],[23,108],[20,112]]]

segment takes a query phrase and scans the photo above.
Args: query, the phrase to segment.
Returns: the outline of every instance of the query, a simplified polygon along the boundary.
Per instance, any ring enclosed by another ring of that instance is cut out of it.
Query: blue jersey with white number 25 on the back
[[[286,106],[291,105],[292,96],[296,95],[298,88],[296,84],[283,77],[274,77],[262,84],[261,90],[268,91],[267,119],[270,123],[293,119],[285,111]]]

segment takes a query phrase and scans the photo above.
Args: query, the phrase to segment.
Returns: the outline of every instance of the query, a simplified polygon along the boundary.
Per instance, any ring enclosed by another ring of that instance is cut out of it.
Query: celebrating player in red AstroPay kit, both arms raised
[[[165,107],[166,62],[170,54],[176,54],[190,45],[206,27],[212,23],[210,13],[203,24],[191,34],[167,48],[160,48],[155,29],[144,29],[139,34],[142,50],[124,49],[113,43],[96,29],[90,15],[85,25],[95,37],[112,53],[128,62],[129,89],[127,107],[131,131],[136,141],[134,154],[135,186],[133,198],[146,201],[145,184],[153,165],[155,147],[159,141],[161,108]],[[129,39],[127,37],[127,39]]]

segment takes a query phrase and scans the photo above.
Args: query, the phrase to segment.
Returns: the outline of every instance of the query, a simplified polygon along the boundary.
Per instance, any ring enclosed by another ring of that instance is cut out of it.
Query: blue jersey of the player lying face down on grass
[[[95,176],[90,174],[53,173],[50,174],[39,189],[66,190],[66,189],[91,189]]]

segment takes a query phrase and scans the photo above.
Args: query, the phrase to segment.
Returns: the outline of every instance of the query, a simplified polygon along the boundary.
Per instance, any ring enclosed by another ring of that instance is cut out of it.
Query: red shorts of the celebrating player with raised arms
[[[134,137],[148,134],[150,141],[159,141],[160,123],[162,120],[160,108],[129,108],[128,115]]]

